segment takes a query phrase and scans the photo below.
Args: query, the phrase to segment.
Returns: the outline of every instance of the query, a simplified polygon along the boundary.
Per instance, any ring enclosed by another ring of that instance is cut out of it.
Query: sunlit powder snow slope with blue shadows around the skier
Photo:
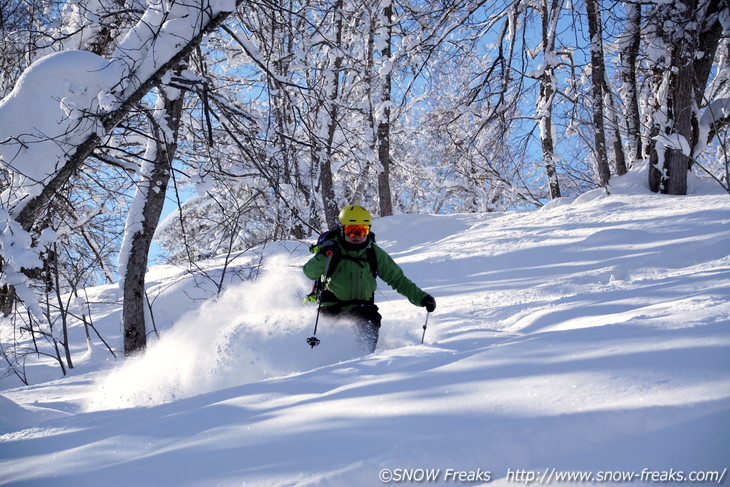
[[[326,321],[321,345],[306,345],[306,243],[244,256],[234,270],[260,262],[259,279],[232,275],[215,300],[203,300],[212,281],[153,268],[161,338],[143,357],[114,363],[94,343],[69,377],[34,364],[34,385],[5,379],[0,483],[724,479],[730,198],[645,195],[630,179],[613,189],[533,212],[376,221],[438,308],[421,345],[425,311],[381,285],[380,348],[367,356]],[[218,262],[206,265],[215,277]],[[104,287],[89,301],[117,297]],[[117,305],[96,313],[120,346]]]

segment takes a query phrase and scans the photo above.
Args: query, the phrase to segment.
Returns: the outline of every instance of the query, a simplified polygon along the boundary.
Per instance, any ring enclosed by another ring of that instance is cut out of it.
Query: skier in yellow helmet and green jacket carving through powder
[[[353,321],[363,347],[374,352],[382,319],[375,305],[376,277],[429,313],[436,309],[436,300],[408,279],[390,255],[375,244],[368,210],[346,206],[339,220],[338,228],[325,234],[326,240],[315,247],[317,253],[304,264],[304,274],[312,280],[322,277],[321,314]]]

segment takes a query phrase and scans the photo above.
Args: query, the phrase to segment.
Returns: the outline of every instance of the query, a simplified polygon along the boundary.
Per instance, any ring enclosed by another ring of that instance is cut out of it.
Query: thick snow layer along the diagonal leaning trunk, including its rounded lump
[[[0,101],[0,164],[10,174],[0,205],[17,217],[84,142],[109,133],[166,64],[235,6],[233,0],[151,1],[111,59],[63,51],[31,65]]]

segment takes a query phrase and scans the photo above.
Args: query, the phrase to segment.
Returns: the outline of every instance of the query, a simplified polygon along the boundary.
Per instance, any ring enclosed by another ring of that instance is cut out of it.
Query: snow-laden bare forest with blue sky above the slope
[[[116,281],[125,353],[144,349],[153,238],[205,279],[201,259],[305,239],[347,203],[539,207],[642,166],[657,197],[689,171],[727,190],[729,10],[3,0],[3,354],[22,370],[30,334],[73,367],[67,317]]]

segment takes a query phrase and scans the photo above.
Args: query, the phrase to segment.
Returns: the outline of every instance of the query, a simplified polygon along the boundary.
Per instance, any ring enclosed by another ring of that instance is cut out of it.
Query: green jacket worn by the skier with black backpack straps
[[[375,249],[375,258],[378,262],[377,274],[386,284],[402,294],[416,306],[422,306],[421,301],[428,296],[428,293],[416,286],[408,279],[393,258],[385,250],[375,244],[372,234],[368,236],[367,245],[359,250],[348,250],[340,238],[335,241],[340,246],[342,258],[339,259],[337,267],[330,269],[330,277],[325,283],[322,293],[322,306],[342,305],[343,310],[354,307],[357,302],[371,301],[375,295],[377,283],[373,277],[370,264],[367,261],[367,247]],[[349,258],[348,258],[349,257]],[[317,254],[304,264],[304,274],[312,280],[316,280],[324,274],[327,257]],[[348,301],[355,301],[354,304],[346,304]]]

